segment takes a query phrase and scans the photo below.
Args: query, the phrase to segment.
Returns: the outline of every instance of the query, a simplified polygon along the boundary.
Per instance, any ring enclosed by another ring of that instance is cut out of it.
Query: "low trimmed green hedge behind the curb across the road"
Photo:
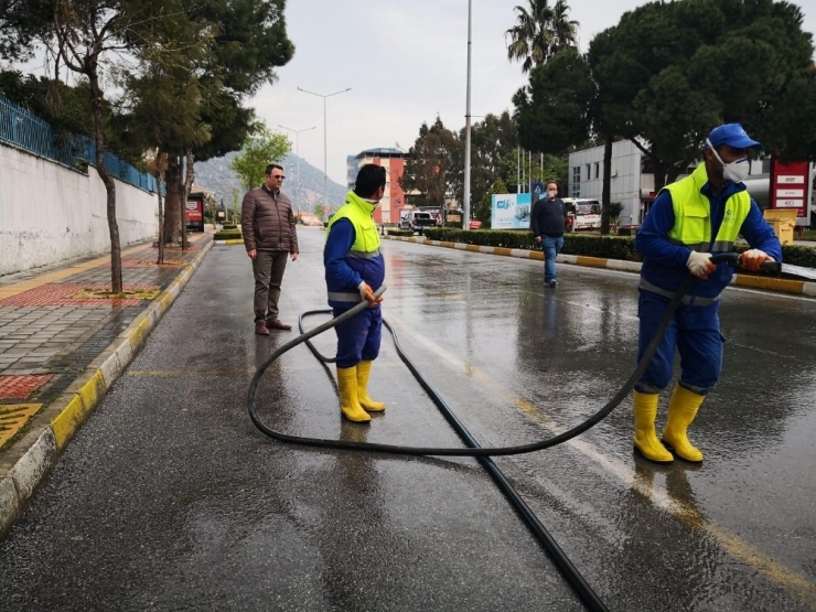
[[[400,236],[405,233],[391,230],[389,235]],[[425,230],[429,240],[442,240],[445,243],[463,243],[465,245],[492,246],[540,250],[533,239],[533,233],[526,230],[502,230],[502,229],[464,229],[451,227],[433,227]],[[748,247],[737,247],[738,253],[744,253]],[[595,236],[589,234],[566,234],[563,236],[565,255],[584,255],[604,259],[622,259],[624,261],[643,261],[635,250],[634,238],[629,236]],[[785,264],[816,268],[816,248],[796,245],[782,246],[782,260]]]

